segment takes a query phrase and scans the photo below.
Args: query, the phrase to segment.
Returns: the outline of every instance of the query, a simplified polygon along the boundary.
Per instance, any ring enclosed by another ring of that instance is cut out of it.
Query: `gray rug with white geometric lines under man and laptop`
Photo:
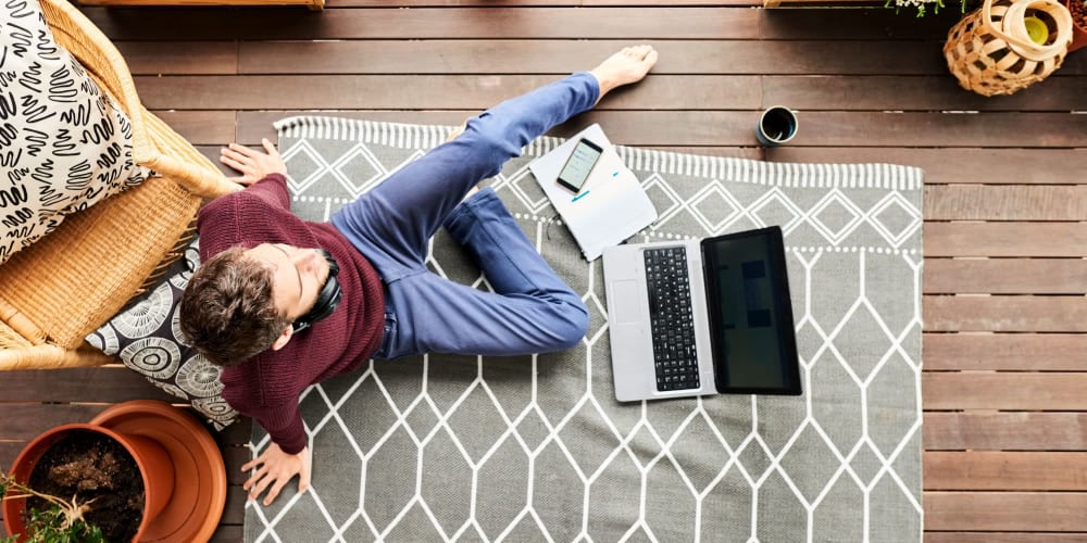
[[[449,130],[277,127],[293,209],[312,219]],[[491,184],[584,293],[584,343],[372,363],[311,388],[313,487],[248,504],[246,541],[920,541],[922,172],[619,148],[660,212],[638,240],[782,225],[804,381],[800,397],[619,404],[600,261],[580,256],[527,168],[558,142],[534,142]],[[430,266],[487,288],[445,232]],[[252,441],[267,444],[259,429]]]

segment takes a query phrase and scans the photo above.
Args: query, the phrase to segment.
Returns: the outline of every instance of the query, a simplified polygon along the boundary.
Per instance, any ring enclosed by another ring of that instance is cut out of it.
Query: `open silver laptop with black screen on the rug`
[[[800,394],[776,226],[603,252],[615,397]]]

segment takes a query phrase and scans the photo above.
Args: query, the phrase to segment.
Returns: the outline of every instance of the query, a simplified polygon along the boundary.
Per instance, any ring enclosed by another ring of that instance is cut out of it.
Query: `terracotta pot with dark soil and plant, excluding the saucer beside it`
[[[170,502],[174,469],[152,439],[74,424],[30,441],[2,482],[14,541],[123,542]]]

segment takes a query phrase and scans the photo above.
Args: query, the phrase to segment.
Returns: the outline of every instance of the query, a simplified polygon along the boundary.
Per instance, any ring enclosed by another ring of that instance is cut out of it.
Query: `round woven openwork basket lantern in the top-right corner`
[[[1045,43],[1027,35],[1028,16],[1049,28]],[[948,33],[944,55],[962,88],[991,97],[1048,77],[1061,66],[1071,42],[1072,14],[1057,0],[985,0]]]

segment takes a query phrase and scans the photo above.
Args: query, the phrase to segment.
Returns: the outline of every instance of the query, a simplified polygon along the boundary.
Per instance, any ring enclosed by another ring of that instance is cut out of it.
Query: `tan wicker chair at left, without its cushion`
[[[0,266],[0,369],[112,362],[84,338],[178,256],[205,198],[238,188],[140,104],[121,53],[83,13],[41,5],[58,43],[128,113],[136,162],[160,177],[68,216]]]

